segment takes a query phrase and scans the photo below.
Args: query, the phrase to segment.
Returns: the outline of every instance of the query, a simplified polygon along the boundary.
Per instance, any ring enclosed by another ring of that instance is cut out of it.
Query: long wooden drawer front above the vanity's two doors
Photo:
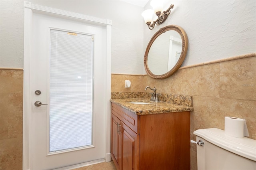
[[[126,124],[137,134],[140,134],[140,116],[136,115],[114,103],[111,103],[111,113],[114,114],[120,121]]]

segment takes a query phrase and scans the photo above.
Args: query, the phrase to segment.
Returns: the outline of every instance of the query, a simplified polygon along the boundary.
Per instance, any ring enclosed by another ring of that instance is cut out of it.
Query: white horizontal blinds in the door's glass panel
[[[50,152],[92,144],[92,36],[50,31]]]

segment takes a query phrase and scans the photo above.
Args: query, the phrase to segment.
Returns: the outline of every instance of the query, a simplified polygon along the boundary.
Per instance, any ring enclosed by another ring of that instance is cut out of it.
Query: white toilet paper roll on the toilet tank
[[[240,119],[237,117],[225,117],[224,133],[236,138],[243,138],[244,136],[248,136],[248,129],[245,119]]]

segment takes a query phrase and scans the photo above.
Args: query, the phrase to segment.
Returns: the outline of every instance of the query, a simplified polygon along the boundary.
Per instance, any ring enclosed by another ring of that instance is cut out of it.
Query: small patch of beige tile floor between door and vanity
[[[111,162],[102,162],[94,165],[84,166],[84,167],[76,168],[73,170],[116,170],[116,167],[113,161],[111,161]]]

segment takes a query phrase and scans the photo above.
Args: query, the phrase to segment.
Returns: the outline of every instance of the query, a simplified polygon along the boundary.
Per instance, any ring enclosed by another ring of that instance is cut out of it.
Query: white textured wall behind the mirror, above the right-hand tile
[[[173,0],[167,20],[149,30],[144,25],[144,50],[156,31],[168,25],[188,35],[188,53],[182,66],[256,52],[255,0]],[[151,9],[149,3],[144,9]],[[146,73],[146,72],[144,72]]]

